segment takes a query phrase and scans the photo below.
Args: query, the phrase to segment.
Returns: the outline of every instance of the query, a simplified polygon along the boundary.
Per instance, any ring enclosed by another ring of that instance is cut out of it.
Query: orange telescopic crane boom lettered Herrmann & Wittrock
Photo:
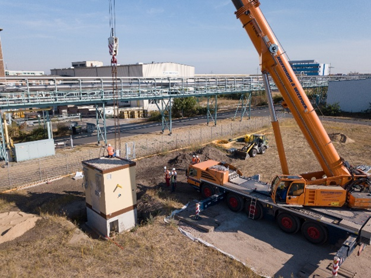
[[[285,53],[259,8],[258,0],[232,0],[259,56],[262,73],[269,73],[328,177],[349,176],[318,115],[293,72]]]

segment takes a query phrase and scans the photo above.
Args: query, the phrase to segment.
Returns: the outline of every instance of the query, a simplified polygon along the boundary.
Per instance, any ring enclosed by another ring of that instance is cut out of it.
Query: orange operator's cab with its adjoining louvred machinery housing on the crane
[[[283,205],[341,207],[347,191],[338,185],[308,185],[301,176],[278,175],[272,181],[271,197]]]

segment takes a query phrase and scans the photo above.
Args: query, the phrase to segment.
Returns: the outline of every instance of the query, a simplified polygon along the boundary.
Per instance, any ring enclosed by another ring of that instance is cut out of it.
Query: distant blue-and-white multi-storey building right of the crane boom
[[[316,60],[296,60],[289,63],[296,75],[324,76],[330,73],[329,64],[321,64]]]

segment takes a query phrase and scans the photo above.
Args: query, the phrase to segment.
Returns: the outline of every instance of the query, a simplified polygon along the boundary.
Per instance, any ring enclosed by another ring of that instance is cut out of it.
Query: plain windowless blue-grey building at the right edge
[[[371,78],[329,82],[327,104],[335,103],[339,103],[340,109],[345,112],[370,109]]]

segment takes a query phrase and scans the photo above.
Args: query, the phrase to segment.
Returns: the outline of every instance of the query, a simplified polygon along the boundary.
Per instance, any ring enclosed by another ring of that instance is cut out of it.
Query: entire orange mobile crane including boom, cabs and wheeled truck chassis
[[[244,209],[251,219],[273,217],[281,230],[286,233],[301,230],[312,243],[324,243],[335,232],[347,235],[334,259],[340,266],[357,246],[360,253],[371,244],[371,213],[368,210],[371,178],[362,168],[351,167],[335,150],[260,11],[259,0],[232,2],[237,19],[260,56],[282,174],[268,184],[244,177],[233,165],[209,160],[190,165],[187,182],[207,198],[201,202],[201,210],[209,203],[216,203],[217,199],[225,199],[231,210]],[[322,171],[289,174],[268,74],[279,88],[284,105],[292,112]]]

